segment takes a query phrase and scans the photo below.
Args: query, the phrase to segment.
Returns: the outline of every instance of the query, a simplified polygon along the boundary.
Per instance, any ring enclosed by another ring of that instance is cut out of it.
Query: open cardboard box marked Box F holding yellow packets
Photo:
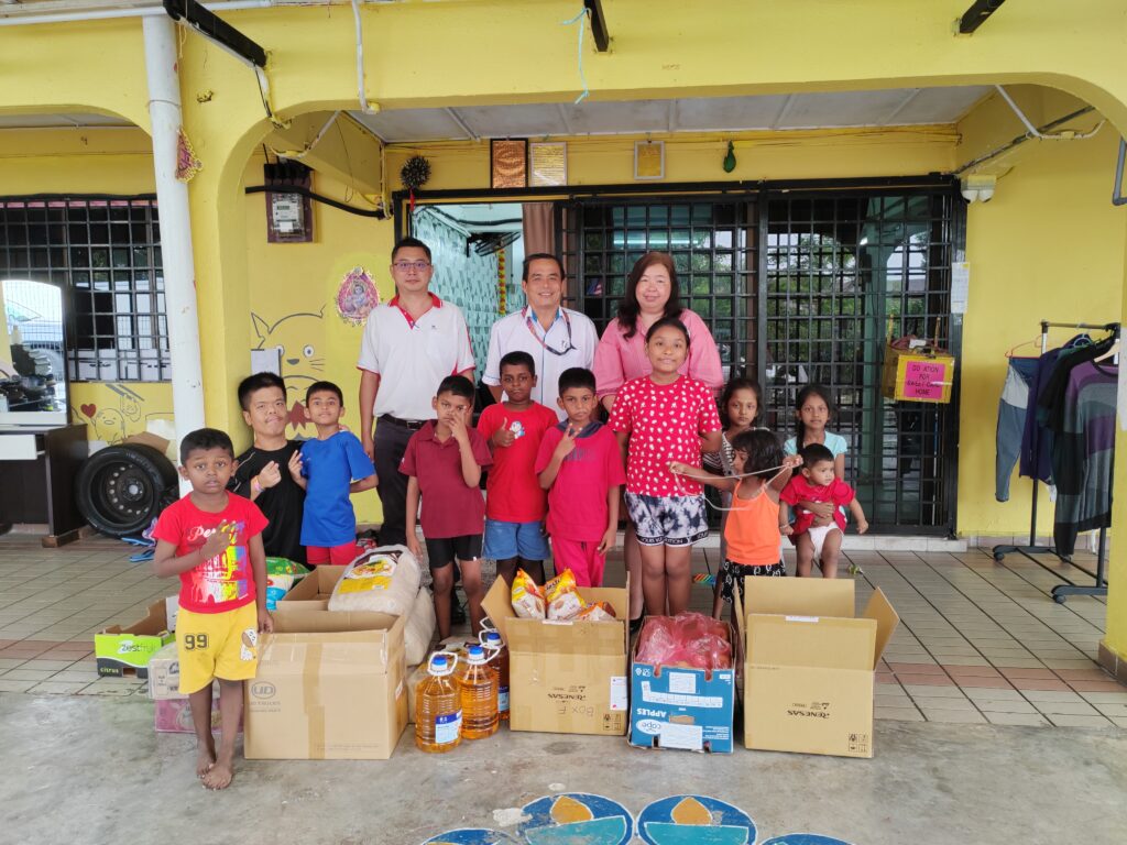
[[[497,579],[482,606],[508,646],[509,730],[545,733],[627,732],[629,589],[579,587],[588,602],[609,602],[613,622],[517,619]]]

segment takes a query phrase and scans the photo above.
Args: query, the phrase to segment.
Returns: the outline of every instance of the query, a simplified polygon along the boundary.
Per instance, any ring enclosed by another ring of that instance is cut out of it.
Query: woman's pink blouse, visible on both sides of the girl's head
[[[720,368],[720,350],[716,347],[712,332],[691,309],[681,312],[681,321],[689,329],[690,343],[689,357],[677,372],[704,382],[712,391],[720,390],[724,386],[724,371]],[[595,347],[595,392],[598,398],[618,394],[625,382],[649,375],[653,370],[646,357],[646,332],[636,331],[628,339],[619,328],[619,319],[615,317],[611,320]]]

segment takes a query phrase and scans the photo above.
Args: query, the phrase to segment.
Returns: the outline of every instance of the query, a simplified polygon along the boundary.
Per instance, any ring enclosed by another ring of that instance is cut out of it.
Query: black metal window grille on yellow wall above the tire
[[[63,290],[71,381],[168,381],[154,199],[0,198],[0,274]]]

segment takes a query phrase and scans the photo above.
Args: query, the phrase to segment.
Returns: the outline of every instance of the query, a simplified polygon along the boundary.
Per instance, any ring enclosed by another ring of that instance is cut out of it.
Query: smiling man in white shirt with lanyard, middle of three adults
[[[556,401],[560,373],[571,367],[591,370],[598,345],[598,332],[587,315],[560,305],[564,281],[564,265],[556,256],[534,252],[525,257],[521,288],[529,304],[494,323],[481,376],[499,402],[504,393],[500,359],[511,352],[529,353],[536,364],[532,399],[553,410],[560,421],[567,418]]]

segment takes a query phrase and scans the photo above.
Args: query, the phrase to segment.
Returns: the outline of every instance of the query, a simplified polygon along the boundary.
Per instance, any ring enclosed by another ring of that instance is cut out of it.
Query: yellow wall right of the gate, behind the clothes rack
[[[1083,104],[1048,89],[1015,91],[1036,123]],[[1077,118],[1091,128],[1099,115]],[[1023,128],[1003,103],[991,100],[960,126],[959,160],[996,148]],[[1028,142],[986,169],[1003,174],[990,203],[967,215],[970,303],[964,323],[959,421],[959,515],[964,535],[1029,530],[1030,481],[1011,482],[1011,498],[994,498],[995,424],[1005,380],[1005,353],[1039,337],[1039,322],[1111,322],[1122,303],[1125,210],[1111,205],[1118,137],[1104,127],[1088,141]],[[1056,345],[1071,333],[1054,330]],[[1026,345],[1019,354],[1036,355]],[[1039,528],[1051,534],[1053,506],[1041,490]]]

